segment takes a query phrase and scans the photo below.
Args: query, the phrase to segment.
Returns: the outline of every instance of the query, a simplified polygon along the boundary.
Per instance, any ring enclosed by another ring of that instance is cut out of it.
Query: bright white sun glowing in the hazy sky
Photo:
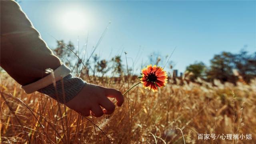
[[[78,32],[88,28],[88,17],[83,11],[70,10],[64,12],[62,16],[62,25],[65,30]]]

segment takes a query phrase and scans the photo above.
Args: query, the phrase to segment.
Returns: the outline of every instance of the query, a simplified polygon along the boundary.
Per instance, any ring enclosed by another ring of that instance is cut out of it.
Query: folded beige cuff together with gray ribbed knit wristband
[[[70,69],[62,64],[44,78],[21,88],[28,94],[38,91],[65,104],[74,98],[86,85],[84,80],[72,76],[70,72]]]

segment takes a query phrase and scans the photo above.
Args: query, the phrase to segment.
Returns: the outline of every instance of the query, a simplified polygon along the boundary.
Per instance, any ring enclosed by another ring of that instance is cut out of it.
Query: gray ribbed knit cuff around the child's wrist
[[[56,82],[56,87],[50,84],[41,88],[38,92],[46,94],[58,102],[65,104],[74,98],[85,85],[86,82],[81,78],[73,77],[72,74],[68,74],[68,76]]]

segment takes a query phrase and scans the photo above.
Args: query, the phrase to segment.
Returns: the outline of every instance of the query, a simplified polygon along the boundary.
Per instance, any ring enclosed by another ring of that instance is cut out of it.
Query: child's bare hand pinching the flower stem
[[[122,106],[124,102],[124,97],[118,90],[86,84],[77,96],[66,103],[66,106],[83,116],[90,116],[91,113],[93,116],[100,117],[103,114],[112,114],[115,110],[114,103],[107,97],[116,98],[118,106]],[[104,109],[102,110],[100,106]]]

